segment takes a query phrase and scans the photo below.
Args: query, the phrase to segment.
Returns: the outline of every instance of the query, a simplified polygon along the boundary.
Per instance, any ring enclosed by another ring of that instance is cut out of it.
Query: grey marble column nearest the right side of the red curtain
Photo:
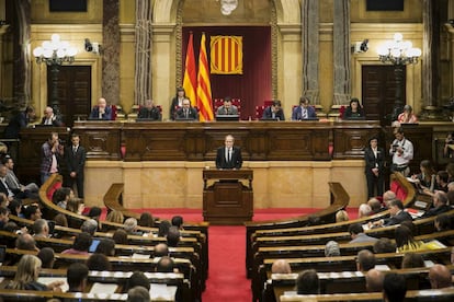
[[[302,0],[303,94],[318,104],[318,0]]]

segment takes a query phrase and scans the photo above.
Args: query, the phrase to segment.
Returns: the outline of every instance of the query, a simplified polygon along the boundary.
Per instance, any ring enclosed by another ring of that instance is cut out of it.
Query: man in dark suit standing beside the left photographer
[[[86,166],[86,149],[80,146],[79,135],[73,133],[71,137],[72,144],[65,152],[66,165],[69,177],[68,185],[70,188],[76,184],[77,195],[83,198],[83,169]]]

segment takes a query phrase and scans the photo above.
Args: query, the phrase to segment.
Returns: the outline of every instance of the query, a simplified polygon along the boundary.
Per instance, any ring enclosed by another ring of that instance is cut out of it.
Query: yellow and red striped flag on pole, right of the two
[[[208,58],[206,56],[205,33],[202,34],[198,53],[197,106],[201,121],[213,120],[212,85],[209,83]]]

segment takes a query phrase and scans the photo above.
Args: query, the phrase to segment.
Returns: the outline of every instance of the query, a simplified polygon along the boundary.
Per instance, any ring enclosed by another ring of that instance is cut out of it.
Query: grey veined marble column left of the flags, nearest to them
[[[151,97],[151,3],[136,0],[136,68],[134,104]]]

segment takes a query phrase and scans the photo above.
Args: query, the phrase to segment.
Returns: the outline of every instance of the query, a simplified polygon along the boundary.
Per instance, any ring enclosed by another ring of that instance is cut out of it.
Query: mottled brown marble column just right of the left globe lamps
[[[102,96],[109,104],[120,104],[118,13],[118,0],[103,1]]]

